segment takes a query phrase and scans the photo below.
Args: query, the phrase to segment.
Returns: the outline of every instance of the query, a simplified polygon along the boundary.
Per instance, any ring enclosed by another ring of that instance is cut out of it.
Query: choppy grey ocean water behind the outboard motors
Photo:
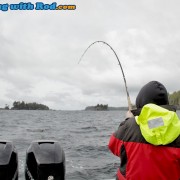
[[[180,117],[180,112],[178,112]],[[66,157],[66,180],[113,180],[118,157],[108,150],[110,135],[125,111],[0,111],[0,140],[18,151],[19,180],[24,180],[26,150],[34,140],[56,140]]]

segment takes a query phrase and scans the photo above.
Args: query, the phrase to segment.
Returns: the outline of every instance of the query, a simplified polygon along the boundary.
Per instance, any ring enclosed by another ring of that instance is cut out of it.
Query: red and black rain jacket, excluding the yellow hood
[[[180,136],[168,145],[152,145],[129,118],[112,134],[109,149],[120,157],[119,180],[180,180]]]

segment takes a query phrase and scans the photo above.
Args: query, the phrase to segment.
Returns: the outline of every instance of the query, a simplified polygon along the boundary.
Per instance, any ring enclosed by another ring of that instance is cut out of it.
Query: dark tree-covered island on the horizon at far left
[[[8,105],[6,105],[4,109],[8,110],[10,108]],[[24,101],[14,101],[11,110],[49,110],[49,107],[44,104],[38,104],[36,102],[25,103]]]

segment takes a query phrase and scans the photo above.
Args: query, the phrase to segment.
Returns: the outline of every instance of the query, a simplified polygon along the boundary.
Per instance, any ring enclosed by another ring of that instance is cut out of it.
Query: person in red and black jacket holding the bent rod
[[[118,180],[180,180],[180,120],[157,81],[142,87],[136,111],[127,112],[109,140],[120,157]]]

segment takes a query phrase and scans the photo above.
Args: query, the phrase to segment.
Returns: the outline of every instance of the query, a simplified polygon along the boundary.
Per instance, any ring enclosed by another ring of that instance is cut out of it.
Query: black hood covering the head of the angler
[[[145,104],[168,105],[168,93],[164,85],[158,81],[150,81],[139,91],[136,98],[136,107],[142,108]]]

